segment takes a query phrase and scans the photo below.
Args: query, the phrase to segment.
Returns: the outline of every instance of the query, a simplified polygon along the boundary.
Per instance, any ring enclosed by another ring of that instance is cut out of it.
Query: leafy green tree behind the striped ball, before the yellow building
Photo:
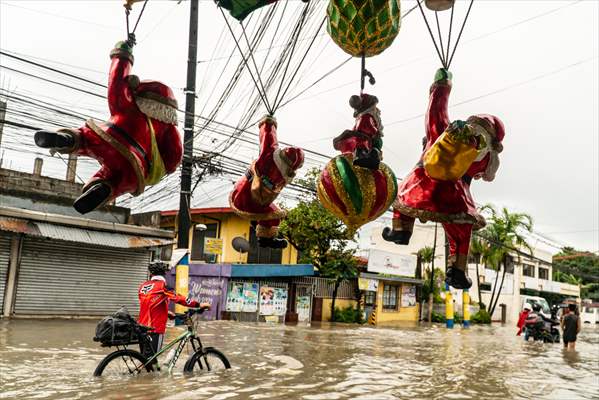
[[[350,248],[354,233],[327,211],[316,196],[316,182],[320,171],[310,170],[298,184],[307,188],[306,196],[291,210],[280,227],[281,235],[300,252],[300,262],[314,265],[325,278],[335,280],[331,316],[339,285],[357,276],[355,250]]]

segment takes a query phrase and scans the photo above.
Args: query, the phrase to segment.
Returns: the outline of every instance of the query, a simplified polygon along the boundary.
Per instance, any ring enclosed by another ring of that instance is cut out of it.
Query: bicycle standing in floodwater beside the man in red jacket
[[[150,373],[156,369],[160,371],[158,364],[158,356],[165,352],[174,349],[173,356],[168,360],[166,366],[168,366],[168,372],[172,373],[173,368],[179,356],[185,349],[188,342],[191,343],[193,353],[185,362],[183,371],[186,373],[194,372],[211,372],[215,370],[229,369],[231,364],[227,357],[219,350],[213,347],[204,347],[202,341],[197,334],[197,322],[193,321],[192,316],[194,314],[202,313],[203,309],[189,309],[183,314],[177,314],[176,317],[183,318],[187,330],[181,333],[175,340],[168,343],[160,351],[147,358],[141,352],[128,349],[127,346],[131,344],[140,344],[141,349],[149,348],[149,337],[148,332],[153,328],[137,324],[135,327],[138,342],[128,343],[114,343],[102,346],[116,346],[117,350],[108,354],[96,367],[94,376],[108,376],[108,375],[139,375],[144,372]],[[175,348],[175,346],[177,346]]]

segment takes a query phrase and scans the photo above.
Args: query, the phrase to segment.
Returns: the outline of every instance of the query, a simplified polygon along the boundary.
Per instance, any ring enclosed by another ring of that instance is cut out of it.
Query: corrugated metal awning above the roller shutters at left
[[[52,224],[49,222],[28,221],[20,218],[0,216],[0,231],[23,233],[67,242],[86,243],[96,246],[136,248],[164,246],[174,243],[174,239],[151,236],[135,236],[124,233],[94,231]]]

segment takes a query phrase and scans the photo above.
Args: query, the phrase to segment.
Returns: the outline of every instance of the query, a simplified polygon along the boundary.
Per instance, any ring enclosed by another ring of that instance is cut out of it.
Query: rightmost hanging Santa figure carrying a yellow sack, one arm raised
[[[495,179],[505,135],[503,123],[480,114],[450,123],[447,105],[451,73],[439,69],[430,89],[424,151],[401,182],[393,204],[393,227],[383,238],[408,244],[414,219],[443,224],[449,242],[445,282],[456,289],[472,286],[466,275],[470,236],[485,225],[470,194],[472,179]]]

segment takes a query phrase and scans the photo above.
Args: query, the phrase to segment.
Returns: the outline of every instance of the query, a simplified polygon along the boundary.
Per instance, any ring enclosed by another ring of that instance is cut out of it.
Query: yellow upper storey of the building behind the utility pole
[[[221,264],[297,264],[297,250],[287,246],[283,250],[260,248],[256,231],[250,221],[239,217],[229,207],[192,208],[189,235],[190,263]],[[177,210],[161,212],[160,227],[177,228]],[[233,239],[241,237],[250,244],[247,253],[233,248]],[[209,254],[205,251],[206,238],[221,239],[209,241],[220,248],[221,254]]]

